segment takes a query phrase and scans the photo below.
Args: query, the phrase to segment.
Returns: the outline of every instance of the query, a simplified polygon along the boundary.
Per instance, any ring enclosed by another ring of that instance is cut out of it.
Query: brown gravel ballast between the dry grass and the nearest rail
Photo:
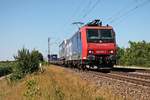
[[[69,69],[69,71],[78,74],[82,79],[94,83],[98,89],[108,89],[124,98],[124,100],[150,100],[150,87],[139,86],[129,82],[123,82],[106,77],[96,77],[94,73]]]

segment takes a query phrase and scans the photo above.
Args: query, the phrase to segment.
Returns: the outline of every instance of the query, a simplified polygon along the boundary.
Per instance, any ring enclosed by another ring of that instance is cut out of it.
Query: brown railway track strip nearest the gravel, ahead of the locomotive
[[[147,86],[150,87],[150,81],[143,80],[143,79],[137,79],[135,77],[127,76],[127,75],[121,75],[121,74],[114,74],[114,73],[100,73],[100,72],[92,72],[90,73],[93,74],[95,77],[106,77],[106,78],[111,78],[111,79],[116,79],[124,82],[129,82],[133,83],[136,85],[141,85],[141,86]]]

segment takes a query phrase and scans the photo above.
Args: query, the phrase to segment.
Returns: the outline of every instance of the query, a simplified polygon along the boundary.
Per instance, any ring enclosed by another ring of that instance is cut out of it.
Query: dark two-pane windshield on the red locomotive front
[[[114,37],[112,30],[108,29],[88,29],[87,30],[88,42],[113,42]]]

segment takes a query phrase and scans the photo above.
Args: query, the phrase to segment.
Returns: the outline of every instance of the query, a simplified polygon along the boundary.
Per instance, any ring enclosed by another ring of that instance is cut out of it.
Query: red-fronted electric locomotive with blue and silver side
[[[112,26],[94,20],[59,45],[62,65],[80,69],[113,68],[116,64],[116,39]]]

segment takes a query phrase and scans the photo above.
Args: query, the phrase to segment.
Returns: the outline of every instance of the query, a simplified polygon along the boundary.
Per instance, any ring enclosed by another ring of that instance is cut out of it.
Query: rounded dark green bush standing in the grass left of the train
[[[13,68],[11,80],[23,78],[26,74],[31,74],[39,70],[39,62],[43,61],[42,54],[37,50],[29,52],[28,49],[21,49],[17,56],[14,56],[16,66]]]

